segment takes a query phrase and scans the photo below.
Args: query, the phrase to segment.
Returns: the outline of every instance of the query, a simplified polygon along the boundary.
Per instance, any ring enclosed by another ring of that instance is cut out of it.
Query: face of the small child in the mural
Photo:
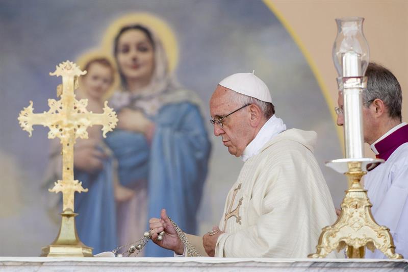
[[[89,65],[81,84],[83,90],[93,98],[101,98],[112,85],[112,68],[97,62]]]

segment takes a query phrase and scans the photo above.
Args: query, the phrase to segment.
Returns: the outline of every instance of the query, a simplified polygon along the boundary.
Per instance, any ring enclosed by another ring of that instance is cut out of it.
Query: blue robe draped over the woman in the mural
[[[136,180],[147,179],[147,218],[160,217],[165,208],[183,231],[194,234],[211,150],[202,116],[196,105],[182,102],[163,106],[152,121],[156,128],[150,145],[142,134],[123,130],[106,139],[118,160],[120,183],[133,187]],[[145,256],[173,253],[150,242]]]

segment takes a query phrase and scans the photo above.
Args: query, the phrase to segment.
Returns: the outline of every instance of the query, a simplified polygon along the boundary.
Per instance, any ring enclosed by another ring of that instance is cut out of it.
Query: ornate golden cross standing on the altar
[[[30,134],[30,137],[32,135],[33,125],[43,125],[44,127],[49,128],[49,139],[58,137],[61,140],[62,180],[55,182],[54,187],[48,190],[55,193],[62,192],[63,221],[60,235],[63,235],[61,232],[66,232],[66,235],[69,237],[60,239],[59,242],[57,240],[59,240],[60,237],[57,237],[53,244],[61,245],[61,243],[65,243],[65,248],[67,247],[66,243],[81,243],[78,240],[73,219],[70,220],[70,218],[73,218],[76,215],[74,213],[74,193],[88,191],[88,189],[82,187],[80,181],[74,180],[73,178],[73,146],[75,144],[75,139],[78,137],[87,139],[88,132],[86,130],[93,125],[102,125],[103,136],[106,137],[106,133],[112,131],[118,121],[116,113],[107,106],[108,102],[105,102],[104,113],[95,114],[87,111],[87,99],[81,99],[80,101],[75,99],[74,82],[78,77],[85,74],[86,71],[81,71],[77,64],[73,62],[65,61],[59,64],[56,66],[56,70],[53,73],[50,72],[49,75],[62,77],[61,99],[58,101],[55,99],[48,99],[49,110],[47,112],[36,114],[33,113],[33,102],[30,101],[30,106],[24,108],[18,116],[21,128],[27,131]],[[61,92],[61,89],[59,90]],[[65,221],[67,224],[64,223],[64,216],[66,217]],[[74,233],[72,233],[72,228]],[[76,241],[74,241],[75,237],[77,239]],[[70,239],[73,240],[69,242],[68,240]],[[63,254],[58,256],[61,255]]]

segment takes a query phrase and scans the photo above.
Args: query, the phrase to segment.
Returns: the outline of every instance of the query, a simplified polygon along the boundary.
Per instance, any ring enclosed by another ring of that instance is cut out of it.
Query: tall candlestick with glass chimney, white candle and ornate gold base
[[[390,230],[379,226],[371,214],[367,190],[360,184],[367,170],[384,162],[363,158],[362,91],[367,87],[364,73],[369,50],[363,34],[361,17],[336,19],[338,34],[333,47],[333,59],[339,74],[339,90],[344,101],[345,159],[329,161],[327,166],[345,174],[348,190],[341,204],[341,214],[335,224],[325,227],[316,246],[317,252],[309,258],[324,258],[333,250],[346,248],[349,258],[364,258],[365,246],[371,251],[380,250],[391,259],[402,259],[395,253]]]

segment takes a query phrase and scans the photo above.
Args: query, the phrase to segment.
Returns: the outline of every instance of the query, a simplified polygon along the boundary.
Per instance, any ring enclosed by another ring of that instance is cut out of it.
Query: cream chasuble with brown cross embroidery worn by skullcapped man
[[[287,130],[245,161],[225,202],[215,257],[306,258],[316,251],[322,228],[337,219],[313,155],[316,138]]]

